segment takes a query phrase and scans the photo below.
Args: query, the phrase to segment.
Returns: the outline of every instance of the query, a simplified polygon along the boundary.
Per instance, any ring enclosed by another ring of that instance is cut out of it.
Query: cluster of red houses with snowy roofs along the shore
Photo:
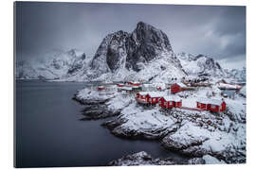
[[[198,111],[210,111],[210,112],[223,112],[226,110],[227,103],[225,102],[225,97],[227,94],[222,94],[222,99],[210,99],[208,96],[198,97],[195,99],[194,105],[190,103],[188,106],[185,99],[179,96],[179,93],[186,91],[195,91],[198,87],[211,87],[210,83],[197,83],[196,85],[189,86],[186,82],[174,82],[173,84],[165,83],[152,83],[145,84],[141,81],[130,81],[127,83],[116,83],[118,92],[129,93],[134,95],[135,100],[138,104],[146,106],[159,106],[165,110],[171,110],[174,108],[179,108],[182,110],[198,110]],[[229,90],[234,93],[239,92],[242,89],[240,85],[231,85],[223,82],[218,82],[217,86],[220,90]],[[113,84],[111,85],[101,85],[98,86],[98,91],[104,94],[105,91],[112,92]],[[146,91],[145,89],[151,89]],[[230,97],[230,96],[229,96]],[[187,102],[188,103],[188,102]]]

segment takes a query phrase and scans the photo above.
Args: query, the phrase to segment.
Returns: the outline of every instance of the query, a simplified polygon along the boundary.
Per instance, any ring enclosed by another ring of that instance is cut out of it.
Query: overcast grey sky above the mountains
[[[109,33],[132,32],[143,21],[167,34],[175,53],[205,54],[225,67],[246,65],[246,8],[87,3],[16,4],[17,59],[52,49],[94,56]]]

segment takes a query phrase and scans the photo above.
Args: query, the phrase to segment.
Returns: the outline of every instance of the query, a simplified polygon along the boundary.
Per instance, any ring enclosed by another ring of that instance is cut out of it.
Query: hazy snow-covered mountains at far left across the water
[[[16,63],[16,78],[21,79],[59,79],[74,76],[86,66],[86,56],[82,51],[71,49],[67,52],[53,50],[43,59],[20,61]]]

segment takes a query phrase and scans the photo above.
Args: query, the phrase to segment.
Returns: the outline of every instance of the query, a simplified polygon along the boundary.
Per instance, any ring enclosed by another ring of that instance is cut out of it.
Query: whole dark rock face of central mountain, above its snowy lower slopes
[[[124,67],[138,72],[140,69],[137,63],[147,63],[162,52],[169,52],[170,59],[181,68],[167,35],[154,26],[139,22],[132,33],[120,30],[107,35],[101,42],[91,67],[100,71],[99,75],[114,73]]]

